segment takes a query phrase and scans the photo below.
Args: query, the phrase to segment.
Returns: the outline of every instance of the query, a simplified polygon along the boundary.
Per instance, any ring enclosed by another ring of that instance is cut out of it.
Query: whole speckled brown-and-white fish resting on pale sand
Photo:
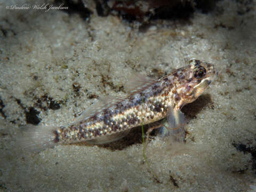
[[[182,107],[195,101],[217,75],[218,70],[211,63],[196,59],[158,80],[137,75],[127,83],[126,97],[92,105],[68,125],[23,127],[22,149],[41,151],[78,142],[99,145],[124,137],[133,127],[161,119],[164,119],[161,126],[169,135],[182,141],[185,137]]]

